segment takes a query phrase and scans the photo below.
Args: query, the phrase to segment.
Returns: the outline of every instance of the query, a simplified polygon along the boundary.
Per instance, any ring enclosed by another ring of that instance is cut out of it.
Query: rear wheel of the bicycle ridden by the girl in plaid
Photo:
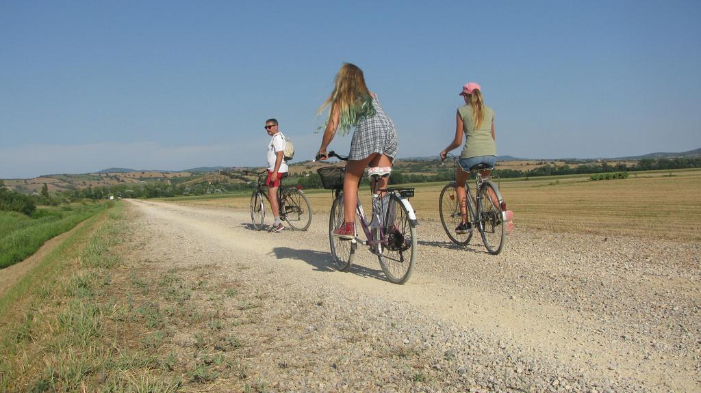
[[[416,229],[409,222],[409,211],[402,199],[392,194],[383,212],[382,254],[377,256],[387,280],[404,284],[414,271]],[[386,239],[386,240],[385,240]]]

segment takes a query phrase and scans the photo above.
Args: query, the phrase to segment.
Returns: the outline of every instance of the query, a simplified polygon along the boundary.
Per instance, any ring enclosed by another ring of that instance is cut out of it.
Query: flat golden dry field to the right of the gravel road
[[[671,174],[671,176],[670,176]],[[504,180],[501,192],[514,211],[517,230],[546,229],[603,236],[639,236],[701,241],[701,170],[632,173],[625,180],[589,176]],[[419,220],[440,220],[438,197],[444,183],[416,186],[411,204]],[[328,220],[331,192],[307,190],[314,220]],[[361,189],[369,205],[367,188]],[[179,203],[243,208],[249,197],[193,199]]]

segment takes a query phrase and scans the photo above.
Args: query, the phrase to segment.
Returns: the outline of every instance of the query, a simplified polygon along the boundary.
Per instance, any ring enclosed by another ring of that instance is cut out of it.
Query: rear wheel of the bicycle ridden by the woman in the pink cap
[[[479,233],[482,234],[484,246],[491,255],[501,252],[506,240],[506,225],[503,220],[500,195],[491,182],[485,182],[479,188],[480,198],[477,206]]]

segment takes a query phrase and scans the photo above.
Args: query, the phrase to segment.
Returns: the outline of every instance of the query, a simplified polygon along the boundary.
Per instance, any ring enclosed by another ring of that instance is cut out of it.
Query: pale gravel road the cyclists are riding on
[[[411,367],[426,370],[414,371],[414,382],[428,391],[701,390],[697,244],[517,229],[492,256],[479,236],[458,248],[440,223],[421,222],[414,274],[393,285],[362,248],[350,272],[332,269],[327,216],[315,216],[306,232],[267,234],[252,230],[247,211],[129,206],[147,244],[144,259],[169,269],[208,264],[219,280],[273,293],[269,312],[308,324],[311,334],[296,338],[299,351],[290,353],[283,338],[266,341],[270,356],[261,355],[259,367],[271,367],[278,390],[402,391],[397,380],[381,388],[370,380],[412,357]],[[324,306],[295,313],[290,304],[300,298]],[[350,331],[357,341],[339,339]],[[385,347],[389,355],[378,355]],[[275,369],[271,360],[294,356],[333,359],[304,372],[279,360]]]

